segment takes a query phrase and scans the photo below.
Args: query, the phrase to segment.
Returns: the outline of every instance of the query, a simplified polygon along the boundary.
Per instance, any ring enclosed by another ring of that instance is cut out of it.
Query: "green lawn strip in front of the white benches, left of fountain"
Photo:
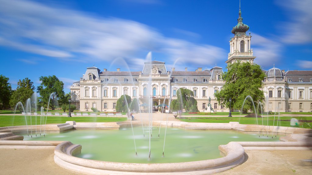
[[[30,125],[30,116],[26,116],[27,125]],[[60,124],[66,121],[76,122],[117,122],[126,121],[126,117],[59,117],[59,116],[45,116],[41,118],[41,124]],[[32,116],[32,125],[36,124],[36,117]],[[37,125],[40,124],[40,116],[37,116]],[[26,125],[25,116],[0,116],[0,127]]]

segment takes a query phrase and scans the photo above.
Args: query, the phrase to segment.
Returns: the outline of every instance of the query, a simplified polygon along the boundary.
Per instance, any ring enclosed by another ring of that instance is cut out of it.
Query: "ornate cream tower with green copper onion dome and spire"
[[[233,38],[230,38],[230,53],[228,54],[227,61],[225,63],[230,64],[235,61],[250,62],[253,64],[253,60],[256,58],[253,56],[252,49],[250,48],[251,35],[246,35],[246,31],[249,30],[249,26],[243,23],[241,17],[241,4],[239,5],[239,17],[237,19],[237,25],[233,27]]]

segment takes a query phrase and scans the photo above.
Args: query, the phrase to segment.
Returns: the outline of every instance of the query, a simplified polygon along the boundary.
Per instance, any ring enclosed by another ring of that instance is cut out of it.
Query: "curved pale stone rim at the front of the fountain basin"
[[[243,147],[235,142],[220,145],[219,149],[225,157],[182,163],[118,163],[73,157],[81,146],[65,141],[56,146],[54,161],[63,168],[86,174],[212,174],[235,167],[245,159]]]

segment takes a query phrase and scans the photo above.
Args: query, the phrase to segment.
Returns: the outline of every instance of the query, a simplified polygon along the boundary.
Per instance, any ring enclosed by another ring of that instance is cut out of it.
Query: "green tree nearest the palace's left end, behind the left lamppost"
[[[55,93],[55,96],[52,96],[52,100],[56,100],[60,104],[68,103],[68,99],[65,97],[64,93],[64,83],[60,81],[55,75],[52,76],[41,76],[39,77],[41,81],[40,86],[37,87],[37,92],[40,94],[39,100],[42,106],[47,106],[49,97],[51,93]],[[55,109],[56,103],[51,103],[50,106],[52,110]]]

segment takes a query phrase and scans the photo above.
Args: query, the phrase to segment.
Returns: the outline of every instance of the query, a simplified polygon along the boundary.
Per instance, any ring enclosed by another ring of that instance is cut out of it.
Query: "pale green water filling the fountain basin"
[[[163,153],[164,132],[160,137],[151,138],[151,160],[149,157],[149,137],[144,137],[142,127],[134,127],[137,148],[135,155],[131,128],[119,130],[71,130],[61,134],[46,134],[46,137],[28,137],[24,140],[67,140],[81,144],[81,154],[77,157],[93,160],[124,163],[174,163],[207,160],[222,157],[218,146],[230,141],[279,141],[257,134],[242,134],[227,130],[184,130],[168,127],[166,146]],[[148,129],[145,132],[149,132]],[[157,127],[153,133],[158,134]],[[146,134],[150,135],[150,134]]]

